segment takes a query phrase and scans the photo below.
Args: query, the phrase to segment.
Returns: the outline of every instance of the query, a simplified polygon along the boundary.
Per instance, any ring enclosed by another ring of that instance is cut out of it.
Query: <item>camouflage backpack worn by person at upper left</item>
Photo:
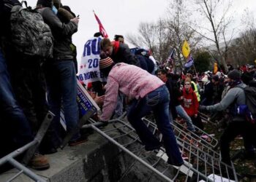
[[[15,51],[41,58],[53,56],[53,35],[37,9],[31,9],[27,4],[26,8],[22,4],[13,6],[10,29]]]

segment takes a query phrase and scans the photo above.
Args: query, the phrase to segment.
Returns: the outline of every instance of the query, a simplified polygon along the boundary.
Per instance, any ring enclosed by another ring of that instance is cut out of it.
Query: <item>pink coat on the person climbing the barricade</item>
[[[126,95],[129,100],[140,99],[164,84],[157,76],[149,74],[138,66],[117,63],[108,75],[102,108],[103,114],[100,119],[102,121],[110,119],[116,108],[119,91]]]

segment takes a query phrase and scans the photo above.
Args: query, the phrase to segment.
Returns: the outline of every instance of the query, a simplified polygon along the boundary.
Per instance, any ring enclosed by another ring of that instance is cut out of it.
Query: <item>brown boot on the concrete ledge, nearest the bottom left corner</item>
[[[42,154],[35,153],[29,162],[29,166],[34,170],[47,170],[50,165],[47,157]]]

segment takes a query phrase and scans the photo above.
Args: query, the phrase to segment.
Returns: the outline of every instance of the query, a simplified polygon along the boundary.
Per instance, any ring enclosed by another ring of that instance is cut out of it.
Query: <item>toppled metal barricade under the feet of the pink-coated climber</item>
[[[100,135],[108,139],[111,143],[118,146],[130,157],[135,159],[132,165],[127,167],[127,171],[123,176],[129,173],[129,170],[139,162],[152,171],[148,175],[148,181],[154,181],[153,174],[163,181],[238,181],[236,170],[233,165],[226,165],[219,160],[219,154],[211,149],[211,144],[206,145],[201,141],[197,144],[184,139],[184,136],[193,138],[192,135],[186,135],[184,130],[181,130],[175,124],[173,125],[177,135],[178,146],[184,158],[184,165],[176,167],[167,164],[167,155],[165,149],[159,151],[145,151],[143,144],[140,142],[135,130],[125,121],[124,116],[110,121],[113,127],[100,128],[100,122],[95,122],[89,119],[91,124],[86,124],[83,127],[91,127]],[[148,119],[143,119],[147,127],[161,140],[161,133],[157,129],[157,125]],[[196,139],[196,138],[194,138]],[[120,180],[121,181],[121,180]]]

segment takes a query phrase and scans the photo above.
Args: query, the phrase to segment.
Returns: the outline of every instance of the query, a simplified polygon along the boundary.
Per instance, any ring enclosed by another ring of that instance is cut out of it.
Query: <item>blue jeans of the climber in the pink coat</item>
[[[165,85],[149,92],[144,98],[133,101],[132,106],[129,108],[127,119],[132,124],[132,127],[135,128],[145,147],[154,149],[154,147],[160,146],[160,143],[141,120],[143,116],[153,111],[157,127],[162,132],[165,151],[169,157],[168,161],[180,164],[183,159],[178,149],[173,129],[170,126],[169,97],[169,92]]]

